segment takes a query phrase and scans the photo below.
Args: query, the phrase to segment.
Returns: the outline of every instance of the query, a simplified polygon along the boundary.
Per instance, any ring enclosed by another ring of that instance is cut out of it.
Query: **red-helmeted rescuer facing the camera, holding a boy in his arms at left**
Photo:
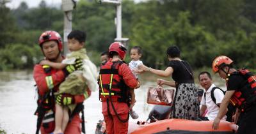
[[[64,59],[61,56],[62,41],[61,36],[56,31],[45,31],[39,38],[39,45],[45,56],[45,59],[61,63]],[[60,94],[54,98],[54,93],[58,91],[58,87],[70,73],[79,70],[83,66],[81,60],[77,59],[75,64],[70,64],[63,70],[56,70],[49,66],[36,64],[33,71],[33,77],[38,89],[38,108],[35,114],[38,115],[36,133],[39,130],[42,134],[51,133],[54,130],[54,104],[70,105],[76,103],[81,107],[84,101],[84,95],[72,96],[70,94]],[[90,94],[90,93],[89,93]],[[81,111],[81,110],[80,110]],[[71,121],[67,124],[65,134],[81,133],[81,118],[79,110],[74,110],[70,115]],[[82,128],[83,124],[82,124]],[[83,129],[84,130],[84,129]]]

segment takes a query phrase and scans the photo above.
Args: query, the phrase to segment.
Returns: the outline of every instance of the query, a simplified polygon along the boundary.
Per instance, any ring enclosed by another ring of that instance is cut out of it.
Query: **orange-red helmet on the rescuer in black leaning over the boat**
[[[233,61],[227,56],[218,56],[212,62],[212,71],[217,73],[220,68],[229,66]]]

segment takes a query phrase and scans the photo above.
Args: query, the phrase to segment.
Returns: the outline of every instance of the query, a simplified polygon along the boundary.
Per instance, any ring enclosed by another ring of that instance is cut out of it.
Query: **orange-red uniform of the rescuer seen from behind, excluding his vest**
[[[113,64],[112,59],[109,59],[109,61],[104,64],[103,66],[111,66]],[[131,69],[129,66],[125,63],[120,64],[118,67],[118,75],[122,77],[122,80],[124,80],[124,84],[132,89],[138,87],[138,80],[134,77],[132,74]],[[109,78],[108,78],[109,80]],[[102,81],[104,81],[104,78],[102,78]],[[113,80],[114,81],[114,80]],[[100,86],[99,86],[100,87]],[[99,88],[102,90],[101,88]],[[114,96],[113,96],[114,97]],[[116,113],[118,116],[125,120],[127,119],[129,115],[129,107],[127,103],[125,102],[119,102],[119,101],[112,101],[113,106],[115,107]],[[108,112],[109,108],[109,112]],[[106,122],[106,131],[109,134],[124,134],[128,132],[128,121],[125,123],[122,123],[118,120],[118,117],[115,114],[115,111],[113,110],[113,107],[111,106],[111,102],[109,102],[109,105],[107,101],[102,101],[102,114],[104,115],[104,120]],[[110,114],[110,115],[109,115]]]

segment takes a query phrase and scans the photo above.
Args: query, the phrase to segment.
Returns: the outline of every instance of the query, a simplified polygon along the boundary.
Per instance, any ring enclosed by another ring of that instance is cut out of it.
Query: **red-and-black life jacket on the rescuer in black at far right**
[[[239,108],[241,112],[250,109],[256,101],[256,76],[249,70],[242,68],[241,70],[231,73],[231,75],[242,75],[245,84],[235,91],[230,99],[230,103]]]

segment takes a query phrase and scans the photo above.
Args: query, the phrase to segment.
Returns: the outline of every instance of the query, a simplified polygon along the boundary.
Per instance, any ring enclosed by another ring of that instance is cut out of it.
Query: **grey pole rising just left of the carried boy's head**
[[[65,11],[64,12],[64,56],[67,56],[68,50],[68,34],[72,31],[72,11]]]

